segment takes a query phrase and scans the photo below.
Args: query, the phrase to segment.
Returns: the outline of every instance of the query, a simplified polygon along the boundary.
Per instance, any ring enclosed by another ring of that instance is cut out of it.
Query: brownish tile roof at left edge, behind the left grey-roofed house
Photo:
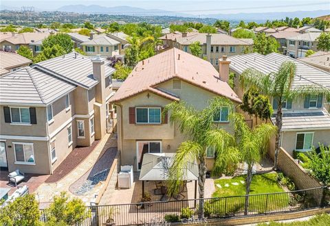
[[[25,66],[32,64],[32,60],[24,58],[17,53],[0,51],[0,75],[17,71]]]

